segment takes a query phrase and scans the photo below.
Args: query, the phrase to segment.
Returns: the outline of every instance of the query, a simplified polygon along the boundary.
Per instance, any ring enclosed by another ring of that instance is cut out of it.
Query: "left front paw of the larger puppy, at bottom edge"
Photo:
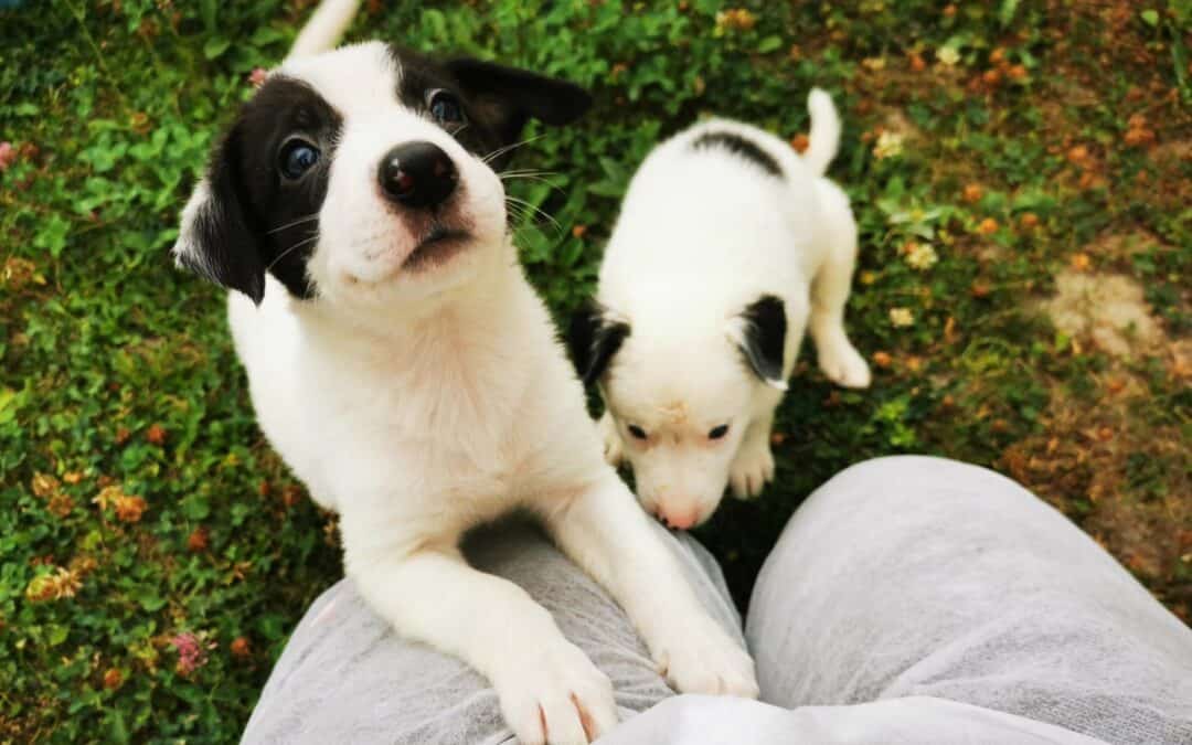
[[[493,679],[505,722],[523,745],[585,745],[616,726],[613,684],[561,639]]]

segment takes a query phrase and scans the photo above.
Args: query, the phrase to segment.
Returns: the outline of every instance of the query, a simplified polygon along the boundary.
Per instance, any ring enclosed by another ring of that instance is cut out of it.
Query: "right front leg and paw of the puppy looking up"
[[[611,470],[545,517],[564,553],[621,604],[673,688],[757,697],[753,660],[700,604],[662,528]]]

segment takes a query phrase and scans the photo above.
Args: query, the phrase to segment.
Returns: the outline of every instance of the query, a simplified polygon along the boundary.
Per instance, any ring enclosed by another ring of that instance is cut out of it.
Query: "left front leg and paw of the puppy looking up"
[[[581,744],[616,725],[608,677],[524,590],[472,569],[454,547],[354,552],[354,542],[346,532],[347,572],[365,600],[402,635],[485,675],[519,740]]]

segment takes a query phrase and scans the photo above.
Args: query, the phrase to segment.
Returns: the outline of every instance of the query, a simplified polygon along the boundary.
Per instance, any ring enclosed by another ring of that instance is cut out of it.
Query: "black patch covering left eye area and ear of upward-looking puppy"
[[[311,297],[306,261],[342,125],[342,117],[306,83],[283,76],[266,81],[215,150],[211,198],[192,236],[197,255],[184,262],[255,303],[265,294],[266,272],[293,296]],[[278,156],[296,135],[321,155],[302,179],[290,181],[278,170]]]

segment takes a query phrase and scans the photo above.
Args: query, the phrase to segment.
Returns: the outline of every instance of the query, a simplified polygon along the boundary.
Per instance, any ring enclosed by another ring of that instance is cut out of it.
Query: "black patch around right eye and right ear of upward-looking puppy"
[[[412,111],[426,112],[436,88],[459,99],[467,124],[447,129],[470,153],[485,156],[517,142],[522,128],[534,118],[561,126],[579,118],[591,106],[583,88],[563,80],[468,57],[436,62],[427,55],[390,46],[402,70],[398,98]],[[497,169],[509,155],[493,159]]]

